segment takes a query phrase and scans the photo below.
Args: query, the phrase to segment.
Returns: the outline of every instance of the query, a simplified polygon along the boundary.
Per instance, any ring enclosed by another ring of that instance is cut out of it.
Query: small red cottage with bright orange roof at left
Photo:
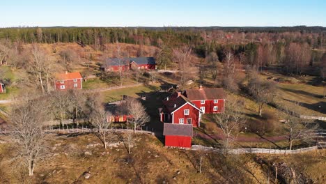
[[[79,72],[65,72],[56,74],[54,89],[65,91],[68,89],[83,89],[82,79]]]

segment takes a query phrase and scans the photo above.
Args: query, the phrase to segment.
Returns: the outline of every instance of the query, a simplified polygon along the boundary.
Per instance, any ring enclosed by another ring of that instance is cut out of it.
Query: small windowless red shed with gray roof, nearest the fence
[[[192,125],[164,123],[165,146],[192,147]]]

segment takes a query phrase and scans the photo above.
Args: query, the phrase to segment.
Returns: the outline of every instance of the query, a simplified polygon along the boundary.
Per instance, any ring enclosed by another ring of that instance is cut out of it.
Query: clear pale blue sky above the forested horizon
[[[325,0],[0,0],[11,26],[326,26]]]

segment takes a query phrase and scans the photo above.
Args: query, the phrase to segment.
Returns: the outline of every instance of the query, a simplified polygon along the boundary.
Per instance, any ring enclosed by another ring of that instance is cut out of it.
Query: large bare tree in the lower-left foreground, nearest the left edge
[[[29,176],[33,176],[36,162],[44,151],[43,125],[48,117],[45,102],[36,100],[20,102],[10,115],[10,122],[13,123],[11,135],[17,142],[18,151],[29,169]]]

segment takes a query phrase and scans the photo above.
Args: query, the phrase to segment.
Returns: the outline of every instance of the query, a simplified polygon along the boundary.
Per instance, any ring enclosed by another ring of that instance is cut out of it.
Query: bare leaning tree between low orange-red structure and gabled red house
[[[137,128],[150,121],[150,117],[146,113],[146,108],[141,105],[139,100],[128,98],[125,107],[129,113],[128,115],[132,116],[130,122],[134,124],[134,132],[136,132]]]

